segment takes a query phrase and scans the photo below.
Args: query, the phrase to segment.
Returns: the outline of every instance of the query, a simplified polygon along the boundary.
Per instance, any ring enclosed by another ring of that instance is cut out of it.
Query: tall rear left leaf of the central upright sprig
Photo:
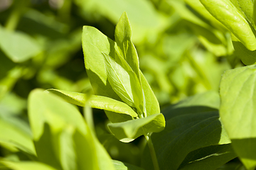
[[[121,100],[107,81],[105,59],[102,54],[114,56],[114,41],[96,28],[84,26],[82,29],[82,50],[85,69],[95,94]]]

